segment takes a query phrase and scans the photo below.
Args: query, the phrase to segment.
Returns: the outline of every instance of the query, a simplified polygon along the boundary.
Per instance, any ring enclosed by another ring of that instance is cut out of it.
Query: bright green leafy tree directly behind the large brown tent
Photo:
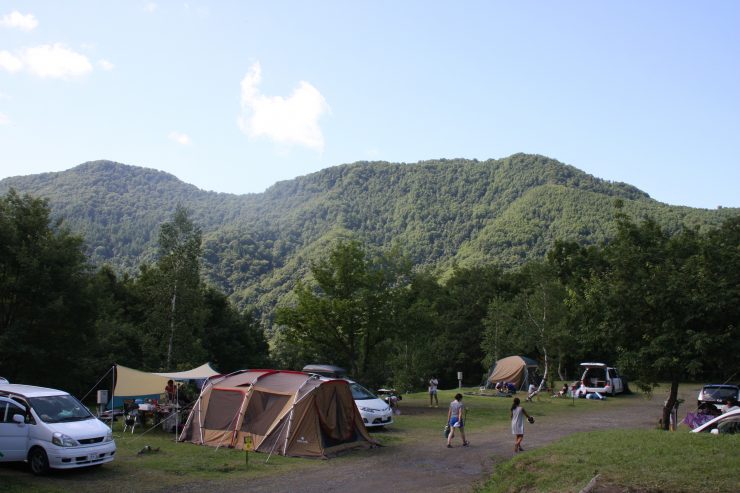
[[[376,383],[395,317],[396,292],[408,282],[401,264],[370,259],[357,241],[342,241],[328,258],[311,265],[315,284],[301,282],[295,304],[280,307],[276,322],[289,343]]]

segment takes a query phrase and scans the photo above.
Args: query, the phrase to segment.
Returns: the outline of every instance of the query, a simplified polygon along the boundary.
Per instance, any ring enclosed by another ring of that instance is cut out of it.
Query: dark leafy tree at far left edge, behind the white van
[[[87,381],[94,293],[81,248],[46,201],[0,198],[0,367],[13,380],[72,392]]]

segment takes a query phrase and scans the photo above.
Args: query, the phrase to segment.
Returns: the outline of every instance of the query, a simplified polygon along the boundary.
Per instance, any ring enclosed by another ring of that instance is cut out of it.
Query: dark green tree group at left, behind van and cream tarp
[[[161,256],[137,277],[91,272],[82,238],[50,217],[45,200],[13,190],[0,198],[3,376],[85,395],[114,363],[269,366],[254,317],[201,282],[200,230],[184,209],[162,225]]]

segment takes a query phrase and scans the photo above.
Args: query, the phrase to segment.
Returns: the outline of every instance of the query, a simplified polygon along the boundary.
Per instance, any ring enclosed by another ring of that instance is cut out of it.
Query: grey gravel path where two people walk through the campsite
[[[605,407],[593,402],[593,409],[579,411],[578,417],[565,415],[538,417],[528,425],[524,447],[535,449],[571,433],[614,428],[652,428],[662,404],[658,399],[646,400],[638,396],[623,397],[628,403]],[[536,414],[536,405],[530,410]],[[407,412],[413,409],[407,410]],[[428,411],[428,410],[426,410]],[[440,411],[444,421],[446,410]],[[392,433],[391,430],[388,433]],[[434,443],[431,443],[434,440]],[[177,491],[209,493],[250,491],[274,492],[338,492],[377,493],[404,492],[460,492],[490,476],[493,466],[510,458],[512,436],[508,424],[476,431],[470,426],[469,447],[462,447],[456,437],[455,447],[445,447],[440,436],[427,440],[404,440],[402,444],[379,447],[362,453],[362,457],[341,457],[318,461],[315,467],[301,468],[279,477],[254,479],[248,486],[240,482],[218,482],[178,486]],[[167,491],[167,490],[165,490]]]

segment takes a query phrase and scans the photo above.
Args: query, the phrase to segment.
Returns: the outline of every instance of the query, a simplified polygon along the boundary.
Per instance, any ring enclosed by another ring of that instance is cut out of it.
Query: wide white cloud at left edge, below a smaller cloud
[[[92,64],[85,55],[65,48],[62,44],[23,48],[16,56],[0,51],[0,68],[16,73],[21,70],[42,78],[70,79],[92,72]]]

